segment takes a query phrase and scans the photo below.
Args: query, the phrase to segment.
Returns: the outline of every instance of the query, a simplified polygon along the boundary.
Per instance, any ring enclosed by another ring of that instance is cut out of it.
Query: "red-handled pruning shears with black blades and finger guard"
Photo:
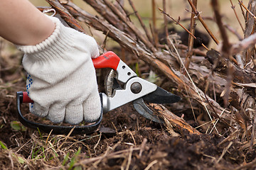
[[[137,77],[137,74],[127,66],[114,52],[106,52],[92,59],[95,69],[111,68],[105,81],[105,93],[100,93],[102,111],[100,118],[93,124],[82,126],[46,125],[26,119],[21,113],[21,103],[33,103],[24,91],[17,92],[18,119],[28,128],[39,129],[43,132],[55,134],[68,134],[73,130],[75,134],[95,132],[102,121],[103,113],[114,108],[133,102],[135,110],[145,118],[156,123],[164,123],[161,118],[154,115],[144,101],[149,103],[176,103],[181,100],[179,96],[161,89],[156,84]],[[122,84],[122,85],[120,85]]]

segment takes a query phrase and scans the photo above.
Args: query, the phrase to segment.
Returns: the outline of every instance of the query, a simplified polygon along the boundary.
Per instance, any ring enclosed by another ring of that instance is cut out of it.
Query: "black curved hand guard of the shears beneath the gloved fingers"
[[[42,123],[32,122],[31,120],[26,119],[21,113],[21,103],[23,103],[23,91],[18,91],[16,94],[17,99],[17,111],[18,111],[18,120],[28,128],[39,129],[41,132],[50,133],[53,130],[52,134],[68,134],[70,130],[73,130],[72,134],[88,134],[95,132],[97,128],[100,126],[100,122],[103,117],[103,106],[101,106],[100,118],[91,125],[83,125],[83,126],[63,126],[63,125],[46,125]],[[100,93],[100,99],[102,103],[102,94]]]

